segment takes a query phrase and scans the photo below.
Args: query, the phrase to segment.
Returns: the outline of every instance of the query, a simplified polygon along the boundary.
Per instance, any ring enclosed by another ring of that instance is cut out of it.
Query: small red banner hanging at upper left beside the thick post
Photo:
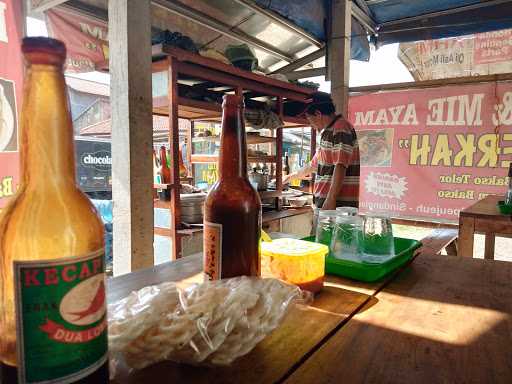
[[[91,72],[108,67],[107,23],[68,9],[46,13],[49,34],[66,44],[67,72]]]

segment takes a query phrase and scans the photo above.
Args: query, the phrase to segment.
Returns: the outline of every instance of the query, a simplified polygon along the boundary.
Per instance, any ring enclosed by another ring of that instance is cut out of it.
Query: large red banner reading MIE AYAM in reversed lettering
[[[361,147],[361,208],[456,221],[505,194],[512,161],[512,83],[353,96]]]

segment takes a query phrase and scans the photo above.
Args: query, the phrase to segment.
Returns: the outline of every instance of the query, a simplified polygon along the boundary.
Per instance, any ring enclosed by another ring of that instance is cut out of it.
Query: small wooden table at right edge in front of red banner
[[[494,259],[497,234],[512,235],[512,216],[502,215],[496,206],[503,196],[490,195],[463,209],[459,218],[459,255],[473,257],[475,232],[485,234],[485,259]]]

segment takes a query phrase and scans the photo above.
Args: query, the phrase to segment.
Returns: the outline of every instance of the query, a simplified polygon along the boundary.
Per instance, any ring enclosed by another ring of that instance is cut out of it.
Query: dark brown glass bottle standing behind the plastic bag
[[[247,177],[243,99],[224,96],[219,180],[204,209],[204,272],[211,280],[260,275],[261,201]]]

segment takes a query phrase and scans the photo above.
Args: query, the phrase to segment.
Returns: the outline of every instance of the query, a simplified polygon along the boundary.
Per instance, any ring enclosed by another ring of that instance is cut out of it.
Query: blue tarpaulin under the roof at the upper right
[[[330,0],[255,1],[258,5],[289,19],[315,37],[326,40],[325,20],[330,9]],[[358,2],[364,3],[363,0],[359,0],[353,1],[353,4]],[[369,10],[368,15],[377,25],[377,33],[370,36],[377,46],[512,28],[512,1],[368,0],[365,3]],[[468,6],[470,7],[465,8]],[[433,17],[425,16],[447,10],[453,12]],[[411,17],[419,18],[407,20]],[[367,60],[369,57],[367,36],[359,23],[353,23],[351,54],[352,58],[357,60]]]

